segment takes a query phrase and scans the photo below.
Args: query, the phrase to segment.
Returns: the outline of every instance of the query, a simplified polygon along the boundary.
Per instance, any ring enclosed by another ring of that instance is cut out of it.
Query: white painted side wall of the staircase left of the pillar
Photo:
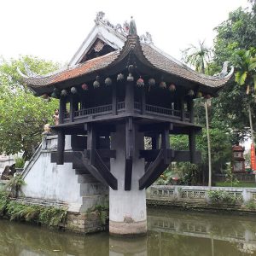
[[[70,148],[70,137],[66,139],[67,150]],[[32,164],[23,172],[26,185],[22,191],[26,197],[65,201],[79,208],[82,204],[79,176],[75,174],[72,163],[61,166],[50,163],[50,154],[55,151],[56,140],[57,137],[44,137],[42,150],[38,150]]]

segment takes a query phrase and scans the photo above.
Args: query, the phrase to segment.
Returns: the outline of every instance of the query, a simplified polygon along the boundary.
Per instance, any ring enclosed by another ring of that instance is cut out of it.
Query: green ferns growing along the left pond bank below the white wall
[[[67,209],[61,207],[27,205],[18,201],[12,201],[7,194],[1,193],[0,216],[8,217],[10,220],[58,226],[65,221]]]

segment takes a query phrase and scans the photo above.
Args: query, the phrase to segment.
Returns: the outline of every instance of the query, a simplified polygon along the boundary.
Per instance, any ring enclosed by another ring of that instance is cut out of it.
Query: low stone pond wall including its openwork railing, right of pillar
[[[208,191],[222,191],[225,195],[236,200],[236,203],[229,204],[223,201],[212,202]],[[208,187],[203,186],[170,186],[153,185],[147,189],[148,206],[173,206],[206,209],[239,210],[255,212],[256,209],[246,207],[248,202],[255,203],[255,188],[229,188],[229,187]]]

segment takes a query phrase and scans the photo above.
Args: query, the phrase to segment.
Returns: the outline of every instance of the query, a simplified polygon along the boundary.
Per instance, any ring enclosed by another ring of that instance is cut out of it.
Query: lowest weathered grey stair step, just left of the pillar
[[[83,205],[80,212],[86,212],[96,206],[106,206],[108,204],[108,195],[90,195],[83,196]]]

